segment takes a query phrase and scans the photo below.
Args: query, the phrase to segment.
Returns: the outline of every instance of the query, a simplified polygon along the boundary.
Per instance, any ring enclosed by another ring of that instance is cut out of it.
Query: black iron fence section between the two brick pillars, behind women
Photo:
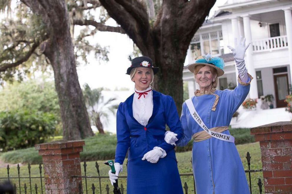
[[[250,194],[252,194],[252,187],[251,187],[251,177],[250,177],[250,173],[253,173],[253,172],[262,172],[263,171],[263,169],[250,169],[250,153],[249,152],[247,152],[247,154],[246,154],[246,160],[247,160],[247,162],[248,162],[248,170],[245,170],[245,173],[248,173],[248,177],[249,177],[249,185],[250,185]],[[191,163],[192,163],[192,161],[190,161]],[[95,194],[95,193],[100,193],[100,194],[102,194],[102,187],[101,187],[101,179],[109,179],[109,177],[108,176],[100,176],[100,171],[99,171],[99,165],[98,165],[98,163],[97,162],[95,162],[95,168],[96,168],[96,171],[97,171],[97,175],[98,176],[87,176],[87,174],[86,174],[86,171],[87,171],[87,164],[86,164],[86,161],[84,161],[84,163],[83,163],[83,168],[84,168],[84,176],[72,176],[72,177],[74,177],[74,178],[77,178],[77,177],[79,177],[79,178],[83,178],[84,180],[85,180],[85,188],[84,188],[84,186],[83,186],[83,189],[82,189],[82,185],[81,184],[79,184],[79,194],[83,194],[83,193],[86,193],[86,194],[88,194],[88,192],[89,191],[91,191],[93,194]],[[193,177],[193,173],[181,173],[180,174],[180,176],[182,177],[182,176],[192,176]],[[98,179],[98,182],[99,182],[99,189],[97,190],[97,188],[95,187],[95,185],[94,185],[94,183],[92,183],[91,184],[91,188],[90,189],[88,189],[88,185],[87,185],[87,179],[94,179],[94,178],[96,178],[96,179]],[[127,176],[119,176],[119,180],[121,180],[121,179],[126,179],[127,178]],[[108,182],[109,182],[109,180],[108,180]],[[258,185],[258,191],[259,191],[259,193],[260,194],[262,194],[262,186],[263,186],[263,183],[261,182],[261,179],[259,178],[258,179],[258,183],[257,183],[257,185]],[[124,193],[124,185],[123,184],[121,184],[120,185],[120,190],[121,190],[121,193],[123,194]],[[194,180],[194,178],[193,178],[193,185],[192,185],[192,187],[193,187],[193,189],[194,189],[194,193],[196,193],[196,189],[195,189],[195,180]],[[111,193],[110,192],[110,190],[112,190],[113,188],[112,188],[112,186],[111,187],[109,187],[109,185],[107,184],[106,185],[106,187],[105,187],[105,190],[106,190],[106,193],[107,194],[109,194],[109,193]],[[187,182],[185,182],[184,184],[183,184],[183,189],[184,189],[184,193],[185,194],[188,194],[189,193],[189,185],[187,184]]]

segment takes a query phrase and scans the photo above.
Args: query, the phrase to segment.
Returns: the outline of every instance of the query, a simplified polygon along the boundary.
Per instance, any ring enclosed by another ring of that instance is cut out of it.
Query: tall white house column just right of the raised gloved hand
[[[246,38],[245,43],[251,43],[251,30],[250,30],[250,16],[244,16],[243,17],[243,28],[244,28],[244,36]],[[245,55],[245,65],[248,70],[248,73],[253,76],[254,80],[250,83],[250,91],[249,96],[251,99],[257,99],[258,98],[258,86],[256,82],[256,75],[255,75],[255,68],[253,66],[253,47],[250,44],[248,49],[246,50]]]

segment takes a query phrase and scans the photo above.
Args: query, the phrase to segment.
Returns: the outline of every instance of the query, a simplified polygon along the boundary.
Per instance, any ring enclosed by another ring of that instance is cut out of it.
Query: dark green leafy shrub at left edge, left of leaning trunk
[[[55,132],[57,119],[52,113],[15,110],[0,112],[0,151],[44,143]]]

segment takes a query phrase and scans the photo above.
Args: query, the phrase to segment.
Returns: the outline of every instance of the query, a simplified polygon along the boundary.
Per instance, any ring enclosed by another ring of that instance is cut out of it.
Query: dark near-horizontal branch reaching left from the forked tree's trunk
[[[126,32],[121,27],[114,27],[114,26],[106,26],[102,23],[98,23],[94,20],[73,20],[74,25],[79,26],[94,26],[99,31],[107,31],[107,32],[118,32],[121,34],[125,34]]]

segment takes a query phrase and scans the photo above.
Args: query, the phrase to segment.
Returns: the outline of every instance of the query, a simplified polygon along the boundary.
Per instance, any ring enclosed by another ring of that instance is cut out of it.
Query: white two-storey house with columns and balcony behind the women
[[[246,43],[251,42],[245,64],[254,77],[249,97],[257,99],[272,94],[274,107],[285,107],[284,99],[291,93],[291,8],[291,0],[228,0],[193,37],[187,54],[188,64],[207,53],[222,57],[225,74],[219,78],[218,89],[232,89],[238,75],[227,45],[234,45],[234,37],[244,36]],[[183,80],[188,82],[189,95],[193,96],[199,87],[186,66]]]

